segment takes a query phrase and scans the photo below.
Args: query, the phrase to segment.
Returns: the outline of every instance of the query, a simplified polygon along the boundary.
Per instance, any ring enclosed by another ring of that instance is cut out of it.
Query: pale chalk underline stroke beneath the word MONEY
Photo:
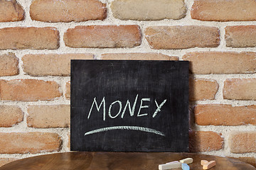
[[[142,131],[142,132],[150,132],[150,133],[154,133],[156,135],[165,136],[164,133],[160,132],[159,130],[154,130],[151,128],[144,128],[144,127],[139,127],[139,126],[112,126],[112,127],[107,127],[107,128],[100,128],[97,130],[91,130],[89,132],[86,132],[85,136],[92,135],[97,132],[106,132],[109,130],[138,130],[138,131]]]

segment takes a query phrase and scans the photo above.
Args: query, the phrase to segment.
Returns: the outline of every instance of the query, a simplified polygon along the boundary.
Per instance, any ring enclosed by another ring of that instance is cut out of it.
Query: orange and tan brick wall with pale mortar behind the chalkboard
[[[255,165],[255,0],[0,0],[0,166],[70,145],[70,59],[191,61],[191,152]]]

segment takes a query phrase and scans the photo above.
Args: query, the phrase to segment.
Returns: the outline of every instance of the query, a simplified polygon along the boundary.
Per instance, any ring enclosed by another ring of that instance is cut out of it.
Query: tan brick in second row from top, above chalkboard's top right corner
[[[218,47],[218,28],[207,26],[151,26],[145,30],[146,40],[154,49],[186,49]]]

